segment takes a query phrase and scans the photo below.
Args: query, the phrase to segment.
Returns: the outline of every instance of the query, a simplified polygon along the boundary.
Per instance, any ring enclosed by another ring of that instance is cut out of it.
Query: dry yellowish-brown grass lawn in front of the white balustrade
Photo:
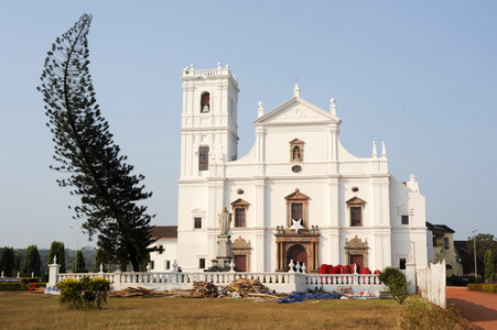
[[[2,329],[392,329],[393,300],[277,304],[230,298],[109,298],[102,310],[71,310],[58,297],[0,292]]]

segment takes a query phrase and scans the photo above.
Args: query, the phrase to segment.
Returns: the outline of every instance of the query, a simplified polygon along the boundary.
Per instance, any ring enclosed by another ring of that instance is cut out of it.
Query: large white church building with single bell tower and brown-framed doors
[[[360,158],[339,140],[335,100],[324,110],[300,96],[271,111],[259,103],[256,143],[238,155],[238,82],[229,66],[183,70],[177,237],[151,253],[153,271],[176,261],[183,272],[208,268],[217,254],[218,213],[233,213],[236,266],[287,272],[304,263],[402,268],[428,266],[425,201],[413,175],[396,179],[385,143]],[[379,151],[379,152],[378,152]],[[412,261],[411,261],[412,262]]]

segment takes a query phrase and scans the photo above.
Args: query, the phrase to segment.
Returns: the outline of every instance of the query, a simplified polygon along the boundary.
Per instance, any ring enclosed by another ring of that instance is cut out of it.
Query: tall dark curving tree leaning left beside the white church
[[[151,216],[139,206],[152,196],[144,193],[142,175],[131,174],[115,144],[109,124],[95,99],[88,65],[87,34],[91,15],[83,14],[76,24],[57,37],[45,59],[39,90],[43,94],[48,128],[54,134],[52,167],[68,174],[57,180],[80,197],[74,208],[75,219],[85,219],[90,239],[97,234],[98,246],[109,262],[139,271],[149,252]]]

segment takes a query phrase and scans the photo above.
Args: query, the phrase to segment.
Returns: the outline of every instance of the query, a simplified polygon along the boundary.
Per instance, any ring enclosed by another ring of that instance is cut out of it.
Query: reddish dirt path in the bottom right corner
[[[461,316],[483,329],[497,329],[497,295],[469,292],[465,287],[446,288],[447,304],[461,310]]]

